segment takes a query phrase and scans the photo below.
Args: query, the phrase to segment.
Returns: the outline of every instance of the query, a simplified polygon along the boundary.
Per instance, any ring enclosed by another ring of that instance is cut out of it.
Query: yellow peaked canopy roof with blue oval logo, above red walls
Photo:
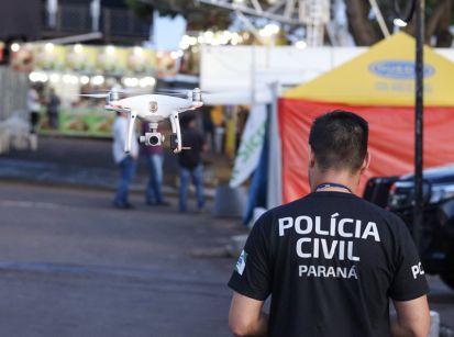
[[[454,64],[424,47],[424,103],[454,106]],[[414,38],[398,33],[285,98],[352,105],[414,104]]]

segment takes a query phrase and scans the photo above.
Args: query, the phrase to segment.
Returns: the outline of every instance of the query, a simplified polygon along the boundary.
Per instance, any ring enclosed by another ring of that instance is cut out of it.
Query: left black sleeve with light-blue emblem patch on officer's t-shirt
[[[247,297],[265,301],[270,293],[269,236],[262,216],[254,225],[235,265],[229,287]]]

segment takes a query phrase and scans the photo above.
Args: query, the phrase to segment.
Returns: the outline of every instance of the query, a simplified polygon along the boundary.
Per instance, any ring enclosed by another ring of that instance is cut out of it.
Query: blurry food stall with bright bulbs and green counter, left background
[[[106,112],[104,101],[81,98],[80,93],[117,86],[152,90],[159,72],[156,53],[139,46],[15,44],[10,64],[18,74],[29,74],[38,90],[43,103],[40,133],[71,136],[106,137],[112,133],[114,114]],[[62,102],[57,127],[51,125],[45,109],[51,88]]]

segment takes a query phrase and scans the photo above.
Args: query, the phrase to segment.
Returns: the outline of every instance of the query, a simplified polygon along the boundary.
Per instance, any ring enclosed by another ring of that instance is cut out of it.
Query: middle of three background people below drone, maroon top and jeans
[[[142,134],[148,132],[146,122],[142,123]],[[164,200],[163,195],[163,164],[164,150],[163,146],[146,146],[142,145],[142,155],[148,167],[150,180],[145,191],[145,203],[147,205],[167,206],[169,203]]]

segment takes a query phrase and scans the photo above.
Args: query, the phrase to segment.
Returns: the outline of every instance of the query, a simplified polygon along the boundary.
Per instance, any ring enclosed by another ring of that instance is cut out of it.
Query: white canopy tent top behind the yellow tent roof
[[[367,47],[203,46],[200,87],[208,104],[270,103],[272,85],[306,83],[367,50]],[[454,61],[454,49],[435,52]]]

